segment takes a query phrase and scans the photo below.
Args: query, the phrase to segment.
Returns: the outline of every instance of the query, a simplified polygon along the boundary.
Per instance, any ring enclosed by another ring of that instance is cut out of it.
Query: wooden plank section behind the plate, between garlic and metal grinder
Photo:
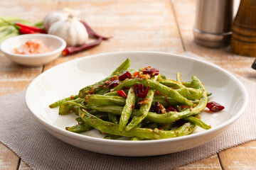
[[[59,57],[47,64],[56,64],[78,57],[114,51],[183,52],[178,29],[169,1],[60,1],[60,7],[68,6],[80,11],[79,18],[102,35],[113,36],[91,50],[77,55]]]

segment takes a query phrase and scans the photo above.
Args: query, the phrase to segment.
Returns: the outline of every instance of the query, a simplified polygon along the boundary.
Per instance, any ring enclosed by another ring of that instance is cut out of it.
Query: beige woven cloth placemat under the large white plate
[[[25,92],[0,97],[0,141],[32,169],[173,169],[256,139],[255,82],[238,77],[249,94],[245,113],[205,145],[157,157],[115,157],[68,145],[50,135],[26,107]]]

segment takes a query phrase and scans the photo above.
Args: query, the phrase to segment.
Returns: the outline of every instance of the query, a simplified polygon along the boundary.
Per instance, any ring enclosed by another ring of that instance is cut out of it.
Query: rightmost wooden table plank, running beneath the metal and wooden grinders
[[[187,51],[204,57],[206,60],[218,64],[230,72],[256,80],[255,72],[251,69],[254,58],[234,55],[230,52],[229,46],[211,49],[201,47],[193,42],[196,0],[173,0],[171,2],[174,4],[174,11],[176,12],[181,36]],[[256,148],[256,142],[248,142],[239,147],[220,152],[220,163],[223,169],[256,169],[255,149],[252,148]]]

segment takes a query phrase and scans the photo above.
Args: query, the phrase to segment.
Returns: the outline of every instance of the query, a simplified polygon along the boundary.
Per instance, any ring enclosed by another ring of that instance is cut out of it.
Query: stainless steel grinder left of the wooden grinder
[[[230,43],[233,0],[197,0],[194,40],[204,47],[223,47]]]

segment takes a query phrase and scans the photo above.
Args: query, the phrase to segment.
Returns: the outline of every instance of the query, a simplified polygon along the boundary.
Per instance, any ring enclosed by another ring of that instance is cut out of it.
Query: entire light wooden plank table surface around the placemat
[[[80,52],[41,67],[23,67],[0,53],[0,95],[26,90],[28,84],[47,69],[78,57],[114,51],[193,52],[223,69],[256,81],[251,69],[254,57],[230,52],[230,47],[210,49],[193,42],[196,0],[34,0],[1,1],[0,16],[18,16],[42,21],[50,11],[69,7],[81,12],[98,33],[112,35],[91,50]],[[0,143],[0,169],[31,169],[8,147]],[[176,169],[256,169],[256,142],[225,149],[212,157]]]

